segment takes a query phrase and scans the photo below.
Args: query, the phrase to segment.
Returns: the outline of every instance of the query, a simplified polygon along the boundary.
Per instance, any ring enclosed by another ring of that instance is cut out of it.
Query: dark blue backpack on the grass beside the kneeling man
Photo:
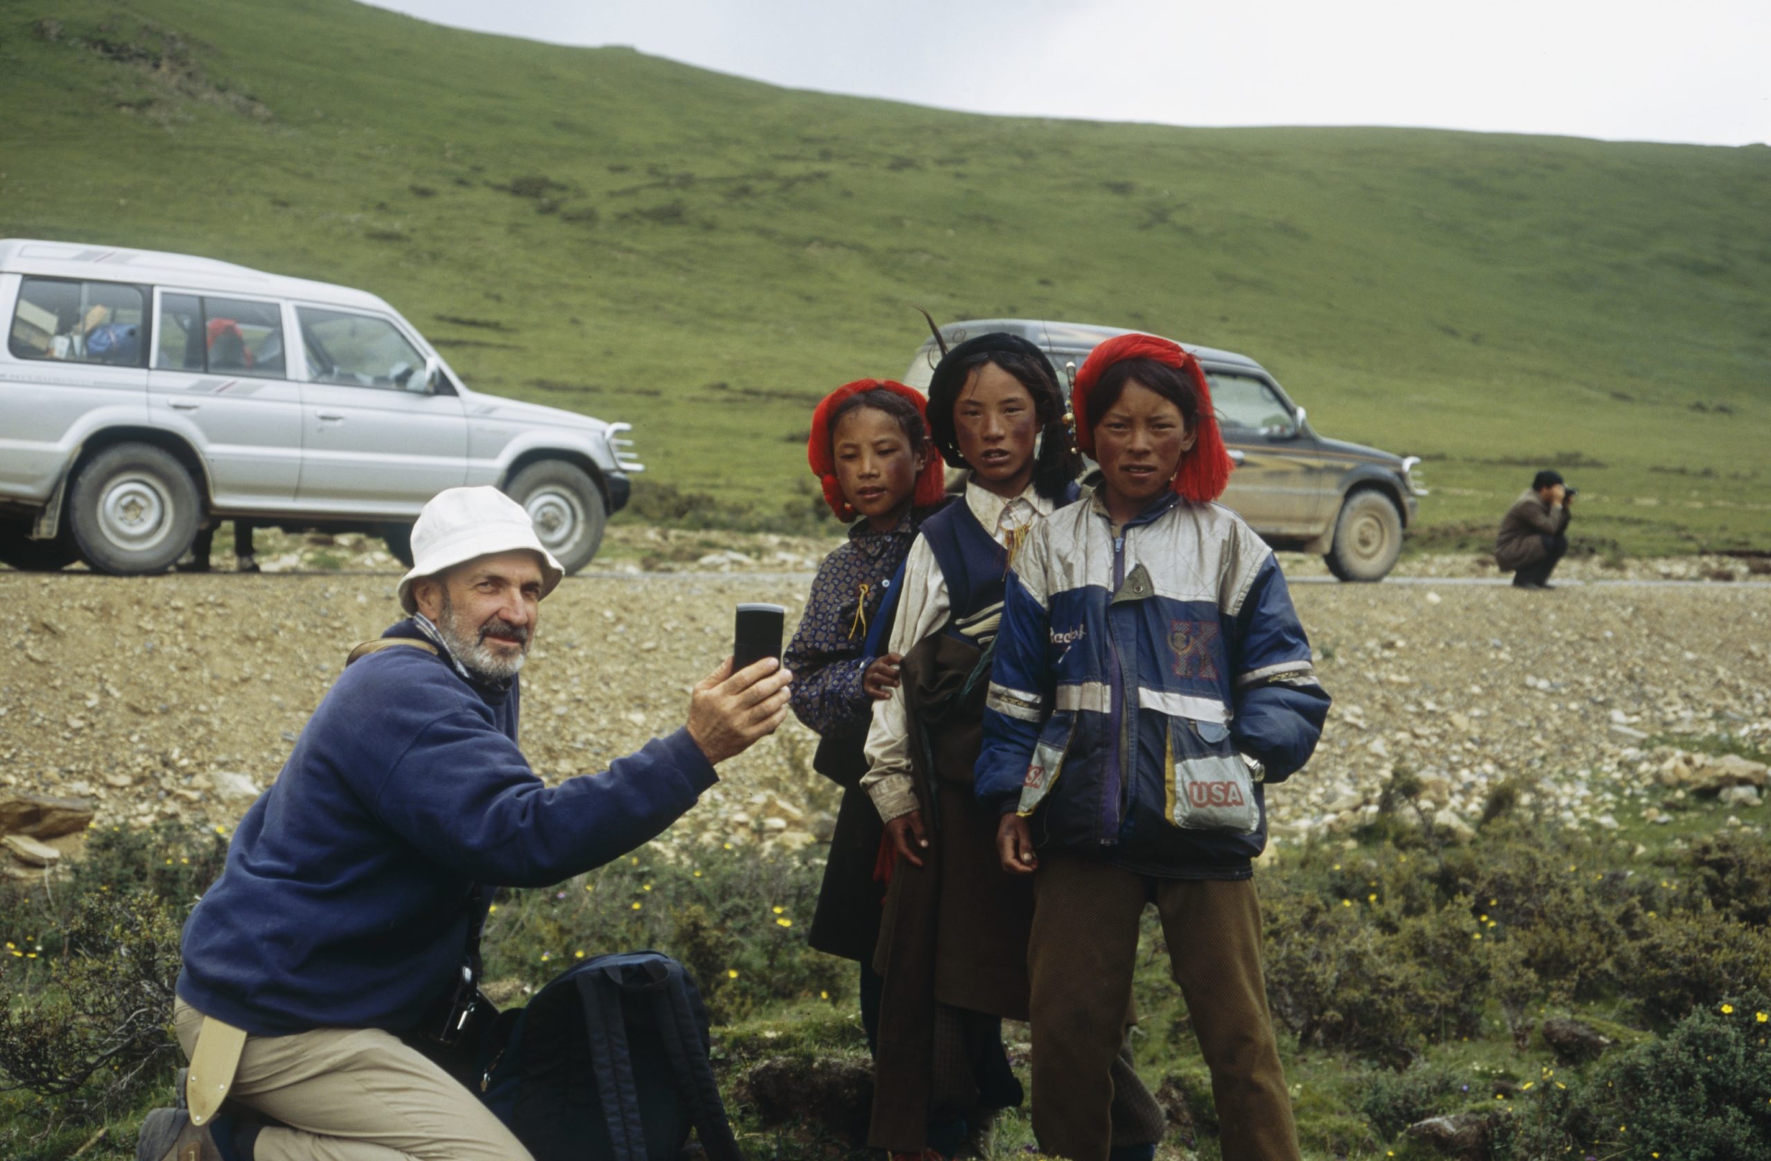
[[[675,1161],[691,1129],[712,1161],[739,1161],[707,1007],[669,956],[586,959],[499,1023],[480,1094],[535,1161]]]

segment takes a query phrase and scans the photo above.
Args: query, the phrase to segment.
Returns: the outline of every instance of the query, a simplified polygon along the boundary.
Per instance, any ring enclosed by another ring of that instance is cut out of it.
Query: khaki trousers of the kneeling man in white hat
[[[174,1011],[191,1055],[202,1014]],[[228,1097],[287,1127],[259,1134],[259,1161],[530,1161],[480,1101],[386,1032],[248,1035]]]

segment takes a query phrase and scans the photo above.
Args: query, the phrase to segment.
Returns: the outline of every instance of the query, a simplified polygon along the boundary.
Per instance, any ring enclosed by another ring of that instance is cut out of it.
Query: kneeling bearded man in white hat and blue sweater
[[[685,727],[549,788],[517,749],[517,671],[560,563],[489,487],[425,504],[413,554],[411,616],[383,641],[418,648],[352,655],[184,926],[174,1023],[193,1108],[149,1115],[142,1161],[524,1161],[402,1041],[441,1023],[485,888],[556,883],[646,842],[786,715],[777,662],[733,674],[728,658]],[[248,1111],[205,1120],[223,1094]]]

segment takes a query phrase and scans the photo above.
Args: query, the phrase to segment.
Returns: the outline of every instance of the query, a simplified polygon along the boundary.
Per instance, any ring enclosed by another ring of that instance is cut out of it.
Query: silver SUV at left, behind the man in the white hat
[[[205,522],[372,531],[498,485],[567,572],[643,471],[625,423],[480,395],[374,294],[188,255],[0,241],[0,561],[172,566]]]

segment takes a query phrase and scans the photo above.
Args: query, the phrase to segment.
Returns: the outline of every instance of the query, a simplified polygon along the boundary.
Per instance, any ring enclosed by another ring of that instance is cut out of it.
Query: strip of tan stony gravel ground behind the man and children
[[[678,726],[689,685],[726,651],[731,605],[781,602],[792,628],[831,543],[643,529],[611,540],[545,604],[522,676],[524,749],[547,779],[602,770]],[[269,575],[0,572],[14,609],[0,788],[92,798],[101,825],[232,827],[345,651],[398,616],[398,566],[374,542],[262,549]],[[1311,766],[1270,795],[1277,844],[1371,818],[1397,768],[1452,832],[1504,779],[1569,827],[1670,821],[1691,795],[1743,784],[1723,800],[1736,825],[1762,827],[1764,768],[1700,750],[1718,734],[1771,749],[1771,584],[1730,559],[1564,572],[1558,591],[1516,593],[1463,582],[1493,579],[1475,557],[1440,556],[1404,561],[1397,575],[1411,584],[1298,584],[1335,708]],[[1590,582],[1723,573],[1737,582]],[[731,761],[666,841],[825,837],[834,789],[811,772],[813,745],[792,724]]]

